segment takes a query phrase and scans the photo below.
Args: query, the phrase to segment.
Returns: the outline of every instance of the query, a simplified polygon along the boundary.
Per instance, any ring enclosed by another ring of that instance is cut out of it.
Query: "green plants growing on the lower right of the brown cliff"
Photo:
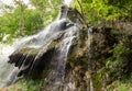
[[[102,60],[105,66],[94,73],[94,86],[97,90],[105,83],[107,91],[131,91],[132,90],[132,71],[131,71],[131,48],[130,36],[123,34],[118,44],[109,50],[112,54],[107,59]],[[98,80],[97,80],[98,79]]]

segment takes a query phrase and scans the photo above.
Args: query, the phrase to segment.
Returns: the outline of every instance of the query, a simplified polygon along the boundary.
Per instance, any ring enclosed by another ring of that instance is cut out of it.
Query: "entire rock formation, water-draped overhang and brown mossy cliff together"
[[[131,72],[131,35],[110,27],[82,27],[87,25],[79,12],[64,10],[10,56],[18,78],[43,78],[42,91],[103,91],[121,73]]]

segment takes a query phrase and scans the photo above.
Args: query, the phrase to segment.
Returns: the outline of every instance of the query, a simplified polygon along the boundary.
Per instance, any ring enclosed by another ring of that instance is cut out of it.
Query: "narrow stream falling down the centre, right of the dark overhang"
[[[74,35],[73,32],[67,33],[67,37],[61,43],[61,52],[59,52],[59,56],[57,57],[57,69],[56,69],[56,80],[61,79],[64,77],[65,75],[65,66],[66,66],[66,60],[67,60],[67,54],[69,50],[69,47],[72,45],[72,42],[74,39]]]

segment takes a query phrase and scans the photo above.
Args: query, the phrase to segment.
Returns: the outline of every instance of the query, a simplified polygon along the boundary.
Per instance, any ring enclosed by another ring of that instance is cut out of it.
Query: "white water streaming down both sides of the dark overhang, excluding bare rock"
[[[15,45],[13,55],[15,55],[15,53],[16,54],[21,53],[23,48],[28,48],[28,49],[25,49],[25,52],[22,52],[22,54],[25,56],[21,55],[21,57],[18,58],[16,61],[13,61],[14,66],[16,66],[16,67],[12,68],[9,66],[10,72],[8,72],[6,75],[6,76],[8,76],[8,77],[6,77],[7,80],[4,82],[0,80],[1,82],[3,82],[2,87],[7,87],[7,86],[15,82],[20,78],[24,77],[25,73],[23,73],[23,75],[20,73],[23,70],[30,69],[29,71],[26,71],[30,75],[34,70],[35,65],[38,61],[38,59],[43,56],[44,53],[47,52],[51,43],[54,39],[58,38],[58,36],[61,34],[63,34],[63,38],[59,41],[59,44],[57,47],[57,53],[55,54],[54,60],[56,60],[56,61],[55,61],[53,72],[47,76],[47,79],[48,79],[47,81],[52,82],[52,88],[51,88],[52,90],[50,90],[50,91],[59,90],[58,88],[61,88],[65,81],[64,78],[65,78],[65,69],[66,69],[66,64],[67,64],[67,55],[73,45],[74,39],[77,37],[78,31],[80,30],[80,29],[78,29],[79,24],[77,24],[77,23],[69,24],[69,20],[67,20],[68,9],[65,9],[64,7],[62,7],[62,9],[64,9],[64,10],[63,10],[63,15],[61,15],[61,18],[58,18],[57,20],[52,22],[47,27],[42,30],[42,32],[34,34],[32,36],[22,38]],[[68,23],[68,25],[67,25],[67,23]],[[25,65],[25,62],[28,61],[28,58],[32,55],[32,52],[33,52],[32,49],[37,49],[37,53],[35,54],[35,57],[33,57],[30,60],[30,61],[32,61],[32,65]],[[7,55],[7,58],[9,55]],[[8,59],[6,59],[6,62],[4,62],[6,65],[7,65],[7,60]],[[18,62],[20,65],[18,65]],[[52,62],[54,62],[54,61],[51,61],[51,64]],[[0,66],[0,68],[2,68],[2,67]],[[4,67],[4,68],[7,68],[7,67]],[[6,69],[4,71],[8,71],[8,69]],[[1,79],[1,77],[0,77],[0,79]],[[55,88],[54,88],[54,86],[55,86]],[[74,89],[75,83],[68,82],[67,87],[70,89]],[[66,91],[68,91],[68,89]]]

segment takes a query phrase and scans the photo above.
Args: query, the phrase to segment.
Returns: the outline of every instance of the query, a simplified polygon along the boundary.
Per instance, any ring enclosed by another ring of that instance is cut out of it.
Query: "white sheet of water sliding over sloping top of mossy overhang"
[[[66,19],[54,21],[47,27],[45,27],[42,32],[35,35],[22,38],[22,41],[18,43],[16,47],[21,48],[28,44],[29,47],[41,48],[42,46],[46,45],[50,41],[55,38],[57,34],[59,34],[62,23],[66,21],[67,21]]]

